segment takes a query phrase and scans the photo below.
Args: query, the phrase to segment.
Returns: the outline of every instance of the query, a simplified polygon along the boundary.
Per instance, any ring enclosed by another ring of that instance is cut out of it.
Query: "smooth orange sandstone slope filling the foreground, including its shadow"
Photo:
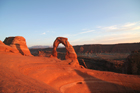
[[[0,52],[0,93],[134,93],[140,76],[72,67],[67,60]]]

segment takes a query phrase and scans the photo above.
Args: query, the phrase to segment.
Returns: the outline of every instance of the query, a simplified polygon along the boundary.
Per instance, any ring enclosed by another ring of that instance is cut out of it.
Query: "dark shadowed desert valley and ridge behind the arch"
[[[128,71],[130,64],[127,58],[133,52],[140,50],[140,43],[78,45],[73,46],[73,48],[80,65],[88,69],[130,74],[131,71]],[[32,55],[44,57],[49,57],[52,50],[53,48],[30,48]],[[65,47],[59,47],[57,51],[57,57],[65,60]]]

